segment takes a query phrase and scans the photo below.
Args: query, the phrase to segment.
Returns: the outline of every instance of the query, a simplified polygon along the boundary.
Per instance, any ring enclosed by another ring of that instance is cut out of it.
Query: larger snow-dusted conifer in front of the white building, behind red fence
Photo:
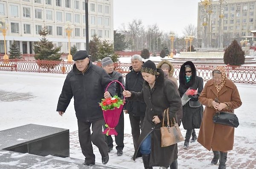
[[[61,53],[61,46],[54,47],[54,44],[47,39],[49,31],[45,26],[39,32],[40,36],[42,37],[39,42],[36,42],[35,47],[35,59],[40,60],[60,60]]]

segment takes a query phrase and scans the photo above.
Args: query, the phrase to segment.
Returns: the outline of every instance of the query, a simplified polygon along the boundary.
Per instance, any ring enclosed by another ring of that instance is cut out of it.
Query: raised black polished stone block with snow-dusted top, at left
[[[69,157],[69,130],[27,124],[0,131],[0,149],[47,156]]]

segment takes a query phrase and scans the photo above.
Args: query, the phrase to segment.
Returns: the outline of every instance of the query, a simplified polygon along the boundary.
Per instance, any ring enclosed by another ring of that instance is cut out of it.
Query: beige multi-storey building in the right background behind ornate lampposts
[[[207,12],[207,34],[211,34],[211,38],[214,40],[219,34],[219,15],[222,11],[223,23],[222,30],[224,40],[226,38],[241,37],[252,38],[253,34],[250,32],[256,30],[256,0],[222,0],[224,3],[220,7],[220,0],[213,0],[212,6],[207,7],[212,13]],[[204,32],[203,23],[205,22],[204,6],[198,3],[198,39],[202,39]],[[209,31],[210,30],[210,31]],[[208,35],[207,35],[208,36]]]

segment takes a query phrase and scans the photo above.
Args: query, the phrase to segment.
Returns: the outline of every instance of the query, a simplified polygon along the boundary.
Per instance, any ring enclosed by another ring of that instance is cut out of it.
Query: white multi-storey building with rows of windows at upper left
[[[47,26],[47,39],[61,52],[68,53],[65,25],[70,22],[73,31],[71,46],[86,49],[85,0],[0,0],[0,23],[9,24],[6,34],[7,53],[13,40],[22,54],[34,54],[33,45],[39,41],[40,30]],[[97,34],[102,40],[113,41],[113,0],[88,0],[89,39]],[[4,53],[3,34],[0,33],[0,53]]]

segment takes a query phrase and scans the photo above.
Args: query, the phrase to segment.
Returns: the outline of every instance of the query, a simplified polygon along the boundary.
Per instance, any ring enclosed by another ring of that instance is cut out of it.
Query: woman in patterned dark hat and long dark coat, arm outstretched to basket
[[[142,154],[145,169],[152,166],[170,166],[177,169],[177,144],[161,147],[161,132],[163,112],[169,107],[169,118],[175,117],[182,108],[177,88],[173,82],[164,78],[163,70],[156,68],[151,60],[141,68],[144,84],[141,92],[124,90],[123,95],[129,100],[140,100],[146,104],[142,131],[136,146],[133,159],[138,151]]]

